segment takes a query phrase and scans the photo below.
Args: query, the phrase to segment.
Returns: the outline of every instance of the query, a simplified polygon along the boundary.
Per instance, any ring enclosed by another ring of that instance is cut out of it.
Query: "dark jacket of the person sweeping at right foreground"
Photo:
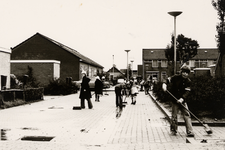
[[[191,90],[191,80],[183,78],[182,75],[174,75],[167,80],[168,90],[177,98],[187,98]]]

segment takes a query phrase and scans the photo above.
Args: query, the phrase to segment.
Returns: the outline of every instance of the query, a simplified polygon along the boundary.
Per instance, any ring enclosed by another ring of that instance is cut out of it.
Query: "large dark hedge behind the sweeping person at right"
[[[206,76],[191,78],[191,92],[186,101],[189,109],[196,115],[208,112],[216,118],[225,117],[225,78]],[[168,94],[162,91],[162,82],[153,87],[153,94],[161,102],[168,102]]]

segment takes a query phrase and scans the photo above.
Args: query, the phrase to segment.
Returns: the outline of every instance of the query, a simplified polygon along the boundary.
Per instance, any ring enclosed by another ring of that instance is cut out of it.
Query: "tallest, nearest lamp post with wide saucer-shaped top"
[[[176,74],[177,72],[176,17],[179,16],[181,13],[182,13],[181,11],[168,12],[168,14],[174,17],[174,74]]]

